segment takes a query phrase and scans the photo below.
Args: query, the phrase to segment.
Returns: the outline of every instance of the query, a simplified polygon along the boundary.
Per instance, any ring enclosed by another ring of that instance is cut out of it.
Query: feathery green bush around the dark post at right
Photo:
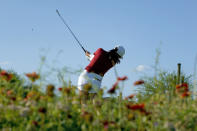
[[[182,83],[186,82],[192,88],[191,76],[182,74],[181,78]],[[154,94],[174,95],[175,87],[178,84],[176,72],[160,71],[157,76],[146,76],[143,80],[145,81],[144,85],[139,87],[137,91],[143,95],[144,99]]]

